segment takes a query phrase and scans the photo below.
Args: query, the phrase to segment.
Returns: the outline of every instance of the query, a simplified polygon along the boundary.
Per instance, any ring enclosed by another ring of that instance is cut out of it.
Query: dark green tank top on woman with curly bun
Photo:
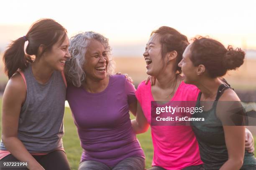
[[[197,138],[201,160],[205,170],[218,170],[228,160],[228,150],[225,145],[223,125],[216,115],[216,105],[224,90],[231,88],[222,84],[218,89],[212,108],[207,111],[197,112],[192,117],[204,117],[205,121],[191,121],[192,129]],[[197,106],[200,107],[201,92],[197,97]],[[253,153],[245,151],[241,170],[256,170],[256,159]]]

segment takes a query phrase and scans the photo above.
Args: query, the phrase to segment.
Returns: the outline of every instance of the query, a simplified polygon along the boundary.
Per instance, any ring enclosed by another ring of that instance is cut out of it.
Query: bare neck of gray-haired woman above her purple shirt
[[[85,80],[82,83],[82,86],[87,92],[99,93],[104,91],[108,87],[109,79],[110,78],[108,75],[103,80],[96,80],[90,77],[85,77]]]

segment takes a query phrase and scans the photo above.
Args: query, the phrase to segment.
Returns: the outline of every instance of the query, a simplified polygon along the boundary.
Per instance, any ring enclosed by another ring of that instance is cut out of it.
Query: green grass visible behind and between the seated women
[[[2,103],[2,100],[0,100],[0,103]],[[1,115],[2,113],[1,105],[0,105],[0,110],[1,110],[0,111],[0,115]],[[1,124],[1,117],[2,116],[0,116],[0,124]],[[133,119],[133,115],[131,115],[131,119]],[[0,126],[0,136],[2,133],[1,128],[2,126]],[[67,107],[65,108],[65,114],[64,114],[64,128],[65,128],[65,135],[63,137],[64,149],[67,153],[67,158],[69,160],[69,164],[72,170],[77,170],[79,161],[80,161],[80,156],[82,153],[82,148],[80,147],[80,141],[77,135],[77,128],[74,125],[71,111]],[[151,160],[153,158],[153,146],[152,146],[150,129],[146,133],[137,135],[137,137],[146,155],[146,168],[149,168],[151,167]]]

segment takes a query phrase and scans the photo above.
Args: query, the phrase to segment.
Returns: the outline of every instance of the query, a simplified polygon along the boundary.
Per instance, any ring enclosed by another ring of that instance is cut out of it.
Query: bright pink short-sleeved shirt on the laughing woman
[[[171,101],[196,101],[199,89],[182,82]],[[151,124],[151,85],[141,82],[136,97],[149,124]],[[195,134],[190,126],[151,126],[154,146],[152,166],[166,170],[181,170],[203,164]]]

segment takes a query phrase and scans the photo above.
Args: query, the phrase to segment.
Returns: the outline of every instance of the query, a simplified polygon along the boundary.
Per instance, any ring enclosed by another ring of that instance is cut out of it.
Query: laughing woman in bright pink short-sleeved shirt
[[[178,67],[188,44],[187,37],[173,28],[161,27],[151,33],[143,56],[146,73],[155,77],[156,82],[154,86],[141,82],[136,91],[137,113],[136,119],[132,120],[136,133],[146,132],[151,125],[151,101],[197,100],[199,90],[184,83]],[[151,136],[154,158],[153,167],[148,170],[204,169],[190,126],[151,125]]]

